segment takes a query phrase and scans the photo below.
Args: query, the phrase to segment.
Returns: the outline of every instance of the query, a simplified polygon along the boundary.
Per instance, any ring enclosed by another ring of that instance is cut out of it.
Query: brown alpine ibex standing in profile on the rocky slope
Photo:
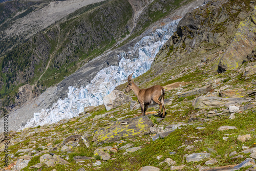
[[[128,85],[125,92],[128,93],[133,90],[134,94],[137,96],[141,108],[141,116],[145,116],[148,105],[159,104],[158,115],[160,116],[161,110],[163,109],[162,118],[165,115],[164,108],[164,93],[165,90],[162,86],[156,85],[148,89],[139,89],[138,86],[132,80],[133,73],[129,75],[127,81]]]

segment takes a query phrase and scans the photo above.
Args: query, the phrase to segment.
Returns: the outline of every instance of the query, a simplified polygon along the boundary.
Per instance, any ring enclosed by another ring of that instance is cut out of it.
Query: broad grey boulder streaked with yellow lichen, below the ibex
[[[121,123],[126,122],[127,124],[121,125]],[[117,141],[122,137],[131,138],[146,135],[150,133],[150,127],[153,125],[154,124],[147,116],[113,121],[97,130],[92,141],[94,145],[100,145],[105,142]]]

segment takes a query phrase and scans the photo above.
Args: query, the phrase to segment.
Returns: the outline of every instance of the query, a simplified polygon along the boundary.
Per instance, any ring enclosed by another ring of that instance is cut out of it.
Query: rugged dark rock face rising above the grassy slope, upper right
[[[163,66],[175,68],[203,57],[205,62],[218,58],[212,70],[219,73],[242,65],[255,52],[253,7],[252,3],[239,0],[219,1],[188,12],[179,22],[177,32],[159,51],[152,69],[159,72]]]

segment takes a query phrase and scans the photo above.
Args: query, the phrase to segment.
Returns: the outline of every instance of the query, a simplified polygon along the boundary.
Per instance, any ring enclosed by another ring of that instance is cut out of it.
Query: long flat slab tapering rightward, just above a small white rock
[[[222,98],[222,97],[197,97],[192,105],[195,109],[220,108],[223,106],[237,105],[249,101],[246,98]]]

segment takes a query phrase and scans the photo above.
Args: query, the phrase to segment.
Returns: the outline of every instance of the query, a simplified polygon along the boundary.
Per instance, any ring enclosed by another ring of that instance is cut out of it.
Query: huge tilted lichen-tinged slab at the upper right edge
[[[242,65],[243,61],[256,46],[256,8],[243,20],[227,51],[220,57],[218,72],[232,70]]]

